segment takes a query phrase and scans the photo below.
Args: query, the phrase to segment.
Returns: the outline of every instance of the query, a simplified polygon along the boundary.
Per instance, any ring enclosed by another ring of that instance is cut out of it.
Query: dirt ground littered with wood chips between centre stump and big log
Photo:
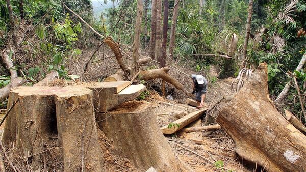
[[[232,78],[217,80],[214,84],[209,86],[205,102],[209,104],[215,104],[218,100],[220,100],[223,96],[231,94],[231,82]],[[190,96],[187,96],[190,97]],[[190,97],[192,98],[192,97]],[[187,111],[186,108],[178,108],[177,106],[165,105],[160,103],[160,101],[169,102],[175,105],[183,105],[186,104],[180,103],[184,102],[181,99],[174,99],[173,101],[169,101],[157,93],[151,93],[150,98],[147,99],[148,102],[151,103],[152,108],[154,109],[155,116],[157,118],[158,124],[160,127],[169,124],[176,120],[173,117],[174,113]],[[201,117],[202,124],[205,121],[205,116]],[[202,131],[204,134],[205,131]],[[202,144],[196,144],[193,141],[185,140],[180,133],[173,135],[166,135],[170,146],[175,150],[176,154],[179,157],[189,164],[194,171],[220,171],[220,169],[216,168],[215,164],[212,164],[205,157],[213,162],[221,160],[224,163],[223,170],[225,171],[248,171],[244,168],[243,164],[240,164],[237,161],[237,157],[235,156],[235,145],[233,140],[223,131],[223,130],[215,130],[209,135],[203,136]],[[180,145],[180,146],[178,146]],[[186,150],[187,148],[195,153]]]

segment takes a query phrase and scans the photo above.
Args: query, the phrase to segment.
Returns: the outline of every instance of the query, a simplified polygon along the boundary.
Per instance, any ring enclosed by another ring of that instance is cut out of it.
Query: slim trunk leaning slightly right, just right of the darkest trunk
[[[172,25],[171,25],[170,41],[169,41],[169,54],[171,58],[173,58],[176,22],[177,22],[177,15],[179,14],[179,3],[180,3],[180,0],[175,0],[174,8],[173,8]]]

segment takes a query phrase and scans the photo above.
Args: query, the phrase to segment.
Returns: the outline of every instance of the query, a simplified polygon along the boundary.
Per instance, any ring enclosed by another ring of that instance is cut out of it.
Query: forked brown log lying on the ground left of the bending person
[[[180,89],[184,91],[184,86],[177,81],[175,78],[173,78],[171,75],[168,74],[168,71],[170,70],[169,67],[164,67],[160,69],[152,69],[148,71],[141,71],[139,74],[140,80],[151,80],[156,78],[161,78],[168,83],[174,85],[176,89]]]

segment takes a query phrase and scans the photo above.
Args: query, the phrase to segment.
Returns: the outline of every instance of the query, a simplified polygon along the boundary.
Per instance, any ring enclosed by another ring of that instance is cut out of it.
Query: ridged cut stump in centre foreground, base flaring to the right
[[[148,102],[129,101],[97,117],[117,154],[130,159],[138,169],[146,171],[190,171],[180,161],[160,132]]]

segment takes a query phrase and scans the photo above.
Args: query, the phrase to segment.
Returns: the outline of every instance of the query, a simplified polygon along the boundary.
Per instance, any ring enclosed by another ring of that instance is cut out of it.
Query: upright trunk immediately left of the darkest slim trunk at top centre
[[[156,42],[155,42],[155,58],[158,60],[162,55],[161,40],[161,19],[162,19],[162,0],[156,0]]]

